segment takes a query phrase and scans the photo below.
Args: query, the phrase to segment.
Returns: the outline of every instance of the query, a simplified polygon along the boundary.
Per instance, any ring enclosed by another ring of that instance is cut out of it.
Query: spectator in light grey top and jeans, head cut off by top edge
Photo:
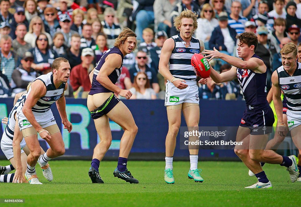
[[[180,3],[181,0],[155,0],[154,2],[154,17],[155,17],[155,28],[158,31],[165,31],[169,35],[172,23],[170,21],[170,14],[175,8],[175,5]]]

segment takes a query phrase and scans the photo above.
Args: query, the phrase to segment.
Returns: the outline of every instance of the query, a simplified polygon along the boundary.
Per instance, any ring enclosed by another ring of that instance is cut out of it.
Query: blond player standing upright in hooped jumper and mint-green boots
[[[168,80],[165,106],[169,128],[165,141],[164,173],[164,180],[168,184],[175,183],[172,161],[181,125],[181,113],[183,111],[189,131],[198,130],[200,120],[197,77],[191,67],[192,55],[201,52],[199,40],[192,36],[197,29],[197,16],[195,12],[185,9],[174,18],[174,26],[180,34],[164,42],[160,55],[159,71]],[[189,141],[197,139],[198,137],[189,137]],[[197,168],[198,150],[198,147],[189,147],[191,164],[188,178],[194,179],[195,182],[203,182],[201,169]]]

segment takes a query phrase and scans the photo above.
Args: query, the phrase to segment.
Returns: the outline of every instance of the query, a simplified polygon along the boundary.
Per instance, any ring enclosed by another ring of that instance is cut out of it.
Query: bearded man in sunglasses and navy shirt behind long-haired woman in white
[[[158,84],[157,72],[154,68],[147,66],[147,61],[148,58],[146,52],[139,50],[136,55],[136,63],[129,69],[131,82],[134,82],[134,77],[138,72],[144,72],[146,73],[147,78],[150,80],[151,87],[156,93],[158,93],[160,88]]]

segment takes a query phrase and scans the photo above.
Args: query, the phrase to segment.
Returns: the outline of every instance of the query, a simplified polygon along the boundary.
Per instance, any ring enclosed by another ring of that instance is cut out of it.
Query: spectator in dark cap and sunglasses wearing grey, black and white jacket
[[[31,52],[26,52],[21,60],[21,64],[11,75],[11,88],[13,89],[13,93],[26,91],[28,83],[38,77],[38,73],[31,67],[32,63],[33,54]]]

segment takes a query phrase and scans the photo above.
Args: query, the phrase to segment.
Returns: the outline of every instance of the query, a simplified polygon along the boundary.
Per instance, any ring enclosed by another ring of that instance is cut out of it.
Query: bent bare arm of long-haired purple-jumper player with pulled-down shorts
[[[121,67],[121,63],[122,58],[119,54],[109,54],[106,57],[106,61],[99,70],[96,80],[105,88],[129,99],[132,96],[132,92],[129,90],[122,90],[121,88],[113,84],[108,77],[113,72],[113,70],[115,70],[115,68]]]

